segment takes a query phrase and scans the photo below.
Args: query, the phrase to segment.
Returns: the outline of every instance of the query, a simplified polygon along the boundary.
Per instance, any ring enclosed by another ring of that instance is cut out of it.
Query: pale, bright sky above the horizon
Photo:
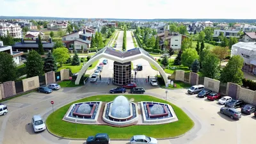
[[[256,0],[0,0],[1,16],[256,19]]]

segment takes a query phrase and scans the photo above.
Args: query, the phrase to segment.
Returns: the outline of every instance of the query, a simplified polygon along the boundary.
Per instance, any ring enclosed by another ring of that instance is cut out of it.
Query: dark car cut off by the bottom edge
[[[110,138],[108,134],[96,134],[95,136],[88,136],[86,144],[109,144]]]

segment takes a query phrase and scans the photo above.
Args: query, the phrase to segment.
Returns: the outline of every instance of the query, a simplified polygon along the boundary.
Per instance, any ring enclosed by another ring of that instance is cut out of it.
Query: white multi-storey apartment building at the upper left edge
[[[21,38],[21,28],[19,24],[0,22],[0,36],[7,36],[7,31],[13,38]]]

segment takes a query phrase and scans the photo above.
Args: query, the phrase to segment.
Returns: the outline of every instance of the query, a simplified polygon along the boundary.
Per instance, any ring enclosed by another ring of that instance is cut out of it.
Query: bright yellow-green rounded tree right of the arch
[[[199,58],[199,56],[198,56],[196,50],[189,48],[182,52],[181,63],[182,63],[182,65],[189,67],[189,69],[190,69],[192,63],[195,60],[198,60],[198,58]]]

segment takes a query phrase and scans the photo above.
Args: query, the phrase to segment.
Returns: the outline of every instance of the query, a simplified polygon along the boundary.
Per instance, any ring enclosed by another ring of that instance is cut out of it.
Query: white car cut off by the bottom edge
[[[152,137],[148,137],[145,135],[136,135],[136,136],[132,136],[131,140],[130,140],[131,144],[136,144],[136,143],[148,143],[148,144],[157,144],[157,140],[156,138],[152,138]]]

